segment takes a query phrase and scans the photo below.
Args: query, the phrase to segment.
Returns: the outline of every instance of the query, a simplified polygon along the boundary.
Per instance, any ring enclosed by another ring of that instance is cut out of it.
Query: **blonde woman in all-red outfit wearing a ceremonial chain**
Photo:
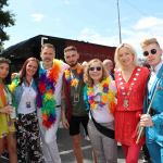
[[[137,163],[145,142],[143,137],[139,143],[136,143],[136,139],[149,71],[147,67],[138,66],[136,52],[128,43],[116,48],[114,60],[117,67],[115,72],[117,89],[115,139],[122,143],[126,163]]]

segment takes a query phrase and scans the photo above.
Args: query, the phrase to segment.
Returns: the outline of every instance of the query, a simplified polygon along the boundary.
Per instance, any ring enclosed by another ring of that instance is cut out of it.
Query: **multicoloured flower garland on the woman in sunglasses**
[[[115,111],[115,93],[113,90],[109,89],[109,85],[111,83],[110,77],[106,77],[104,80],[102,80],[98,86],[100,87],[101,90],[101,101],[98,103],[95,101],[95,92],[93,92],[93,87],[87,86],[86,91],[85,91],[85,97],[84,99],[88,101],[88,104],[90,105],[91,110],[98,109],[98,106],[103,106],[106,103],[109,103],[109,110],[112,114],[114,114]]]

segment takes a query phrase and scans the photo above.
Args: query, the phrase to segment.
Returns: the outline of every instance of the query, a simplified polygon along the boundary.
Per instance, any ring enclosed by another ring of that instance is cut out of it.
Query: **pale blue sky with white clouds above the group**
[[[37,35],[104,46],[130,43],[141,57],[140,41],[156,37],[163,48],[163,0],[9,0],[15,25],[5,28],[4,48]]]

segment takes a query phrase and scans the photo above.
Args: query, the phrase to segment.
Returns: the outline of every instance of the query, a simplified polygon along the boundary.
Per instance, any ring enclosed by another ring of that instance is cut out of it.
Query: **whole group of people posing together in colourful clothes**
[[[10,82],[10,61],[0,59],[0,155],[11,163],[61,163],[57,143],[60,120],[68,129],[77,163],[84,162],[80,124],[89,136],[95,163],[116,163],[121,142],[126,163],[137,163],[146,143],[152,163],[163,163],[163,62],[155,38],[141,42],[150,70],[135,49],[120,45],[110,60],[79,64],[74,46],[65,62],[46,43],[41,61],[29,58]],[[14,111],[16,116],[12,116]]]

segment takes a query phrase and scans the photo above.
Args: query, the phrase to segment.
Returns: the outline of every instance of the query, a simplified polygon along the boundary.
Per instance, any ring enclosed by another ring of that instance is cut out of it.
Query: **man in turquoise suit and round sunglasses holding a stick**
[[[140,117],[140,126],[146,127],[146,142],[152,163],[163,163],[163,61],[162,49],[155,38],[141,42],[143,55],[151,66],[147,84],[145,113],[151,105],[151,113]],[[151,103],[151,104],[150,104]]]

